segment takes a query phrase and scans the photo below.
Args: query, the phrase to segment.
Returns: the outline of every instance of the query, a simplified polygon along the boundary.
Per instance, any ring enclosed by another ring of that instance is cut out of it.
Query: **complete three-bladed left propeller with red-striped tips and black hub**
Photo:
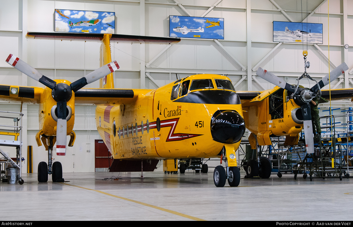
[[[88,73],[85,77],[82,77],[75,82],[67,85],[65,83],[56,83],[54,80],[44,76],[38,72],[35,68],[28,65],[26,62],[10,54],[8,55],[6,62],[15,67],[20,72],[26,74],[32,79],[37,80],[48,88],[52,89],[52,97],[56,101],[56,110],[58,112],[58,121],[56,124],[56,154],[66,154],[66,105],[72,97],[72,91],[76,92],[83,88],[85,85],[90,84],[98,79],[107,76],[108,74],[118,70],[119,65],[116,61],[110,62],[95,71]]]

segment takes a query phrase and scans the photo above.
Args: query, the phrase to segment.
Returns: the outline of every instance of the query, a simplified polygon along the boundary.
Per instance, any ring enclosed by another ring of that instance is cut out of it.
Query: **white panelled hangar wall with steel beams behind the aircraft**
[[[26,40],[27,31],[53,31],[55,8],[114,11],[116,34],[127,35],[169,36],[169,15],[224,18],[224,40],[182,38],[180,43],[170,47],[113,43],[112,58],[120,65],[119,71],[114,73],[115,88],[152,89],[174,81],[175,73],[180,77],[216,73],[228,75],[236,90],[269,89],[272,84],[255,76],[257,68],[287,76],[289,83],[296,83],[295,79],[304,71],[303,48],[309,52],[307,59],[311,67],[307,72],[313,78],[322,78],[329,71],[326,0],[309,1],[308,12],[303,15],[301,8],[306,11],[306,1],[301,7],[300,0],[0,0],[0,6],[0,84],[42,86],[5,62],[10,53],[49,78],[65,78],[71,82],[99,67],[100,43]],[[211,6],[214,7],[209,10]],[[351,70],[353,49],[343,46],[353,46],[353,30],[349,29],[353,15],[348,13],[353,12],[353,2],[331,0],[329,12],[330,69],[345,61]],[[322,23],[323,44],[306,47],[297,43],[274,43],[273,20]],[[350,78],[352,75],[346,72],[332,84],[337,83],[336,88],[352,88]],[[309,86],[307,81],[302,84]],[[97,88],[99,82],[89,87]],[[17,103],[0,103],[0,110],[19,111],[20,108]],[[26,157],[27,145],[34,146],[36,172],[37,163],[47,161],[47,151],[43,146],[37,147],[35,142],[38,105],[24,104],[22,110],[25,114],[23,133],[27,135],[23,139],[23,154]],[[62,162],[64,172],[94,172],[94,139],[100,139],[94,113],[95,106],[76,107],[76,142],[67,149],[66,156],[54,154],[55,161]]]

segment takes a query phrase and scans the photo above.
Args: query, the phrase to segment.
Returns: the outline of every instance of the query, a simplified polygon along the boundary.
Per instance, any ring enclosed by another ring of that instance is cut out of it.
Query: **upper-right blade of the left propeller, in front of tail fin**
[[[112,61],[107,65],[104,65],[96,69],[95,71],[88,73],[85,77],[76,80],[75,82],[71,83],[70,86],[73,92],[76,92],[79,89],[83,88],[85,85],[95,82],[96,80],[101,79],[107,76],[108,74],[118,70],[118,68],[120,68],[118,63],[116,61]]]

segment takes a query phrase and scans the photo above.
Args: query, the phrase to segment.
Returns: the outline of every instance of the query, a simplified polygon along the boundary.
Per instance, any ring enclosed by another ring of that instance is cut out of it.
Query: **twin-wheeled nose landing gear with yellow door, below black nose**
[[[227,151],[226,151],[227,149]],[[231,146],[223,147],[221,161],[226,162],[226,170],[223,166],[216,166],[213,172],[213,182],[216,187],[223,187],[226,184],[228,179],[228,184],[231,187],[237,187],[240,183],[240,170],[237,166],[228,166],[228,163],[231,165],[236,165],[237,160],[235,159],[235,154],[233,154],[234,148]],[[229,157],[229,158],[228,158]],[[222,163],[222,162],[221,162]]]

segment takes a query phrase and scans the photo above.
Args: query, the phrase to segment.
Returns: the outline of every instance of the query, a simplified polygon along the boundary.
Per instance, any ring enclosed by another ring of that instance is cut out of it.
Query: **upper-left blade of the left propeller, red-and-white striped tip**
[[[37,80],[38,82],[46,85],[50,89],[54,89],[56,82],[46,76],[43,76],[42,73],[38,72],[35,68],[28,65],[26,62],[22,61],[21,59],[17,58],[16,56],[10,54],[8,55],[6,62],[13,67],[15,67],[18,71],[23,72],[27,76],[32,79]]]

